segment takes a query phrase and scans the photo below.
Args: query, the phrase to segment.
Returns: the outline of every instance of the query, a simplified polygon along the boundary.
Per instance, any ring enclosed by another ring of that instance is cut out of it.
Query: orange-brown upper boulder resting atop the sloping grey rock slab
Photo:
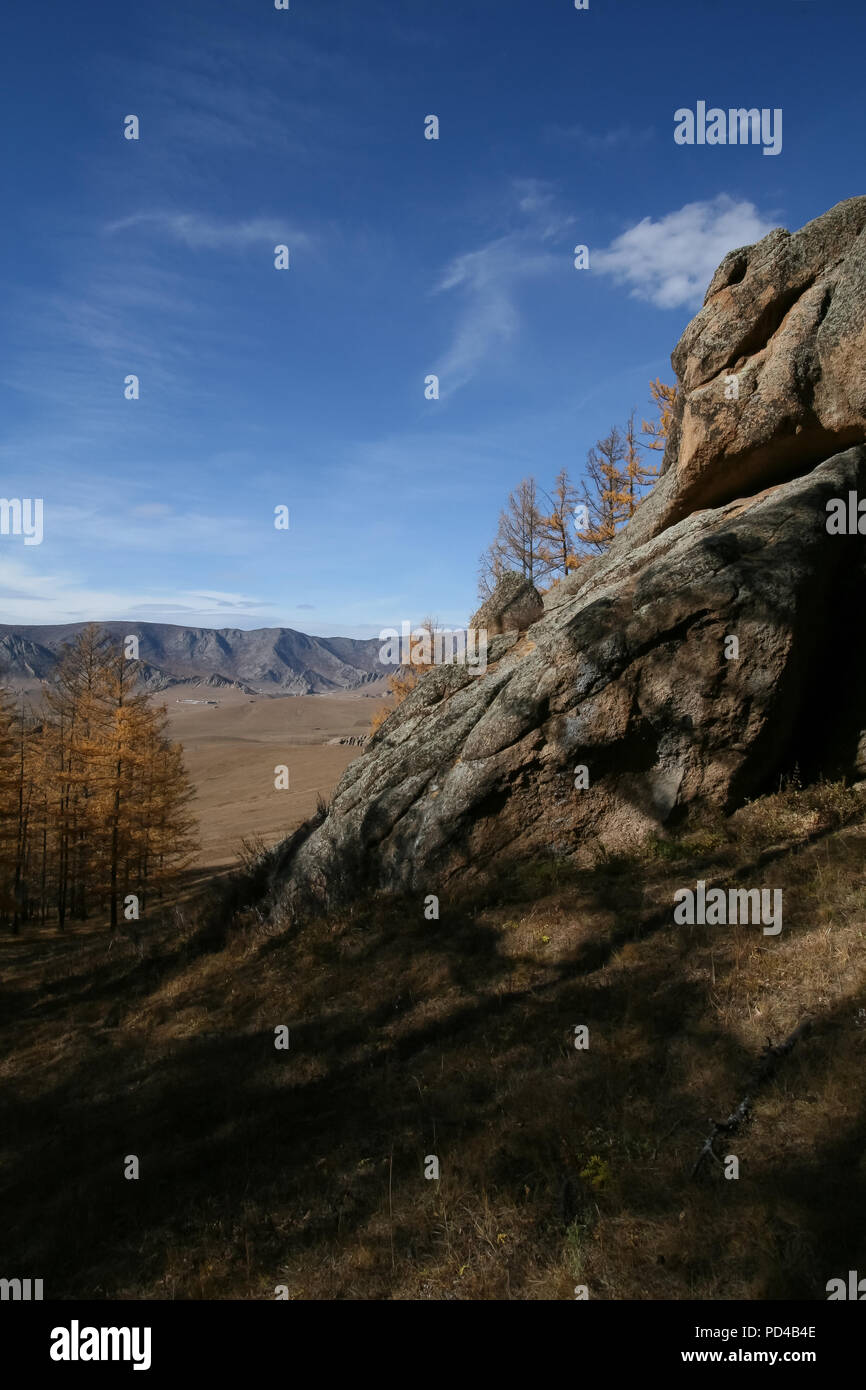
[[[726,256],[671,363],[663,477],[619,553],[866,438],[866,197]]]

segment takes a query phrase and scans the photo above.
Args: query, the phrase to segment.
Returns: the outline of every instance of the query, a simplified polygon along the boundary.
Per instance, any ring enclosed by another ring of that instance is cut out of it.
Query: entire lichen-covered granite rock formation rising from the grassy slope
[[[866,498],[865,229],[852,199],[726,257],[673,356],[655,492],[528,630],[505,606],[484,676],[416,687],[286,845],[278,897],[455,890],[733,809],[795,764],[863,776],[866,539],[827,503]]]

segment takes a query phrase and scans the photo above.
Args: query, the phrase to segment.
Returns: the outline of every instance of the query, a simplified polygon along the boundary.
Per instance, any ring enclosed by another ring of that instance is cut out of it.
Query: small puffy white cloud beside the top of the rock
[[[628,285],[660,309],[696,307],[723,257],[760,240],[777,224],[753,203],[720,193],[653,221],[645,217],[591,256],[592,270]]]

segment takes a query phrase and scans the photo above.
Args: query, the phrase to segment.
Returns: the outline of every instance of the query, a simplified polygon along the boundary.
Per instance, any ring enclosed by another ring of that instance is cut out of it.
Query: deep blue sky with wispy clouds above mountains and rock
[[[0,535],[0,621],[464,623],[507,492],[649,413],[724,252],[866,192],[865,38],[860,0],[7,7],[0,493],[44,539]],[[781,108],[781,153],[676,145],[699,100]]]

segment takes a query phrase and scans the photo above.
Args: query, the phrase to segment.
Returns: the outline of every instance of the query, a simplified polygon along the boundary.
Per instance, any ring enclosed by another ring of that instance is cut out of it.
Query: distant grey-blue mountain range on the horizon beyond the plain
[[[175,627],[171,623],[100,623],[113,638],[139,639],[142,682],[232,685],[249,695],[324,695],[350,691],[388,674],[378,638],[307,637],[291,627]],[[63,648],[86,623],[10,627],[0,624],[0,685],[50,681]]]

